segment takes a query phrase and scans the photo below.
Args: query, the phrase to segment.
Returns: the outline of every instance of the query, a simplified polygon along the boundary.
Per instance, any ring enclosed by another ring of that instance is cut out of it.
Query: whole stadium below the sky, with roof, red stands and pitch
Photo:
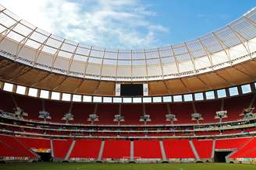
[[[195,40],[108,50],[0,5],[0,168],[254,169],[255,58],[256,9]]]

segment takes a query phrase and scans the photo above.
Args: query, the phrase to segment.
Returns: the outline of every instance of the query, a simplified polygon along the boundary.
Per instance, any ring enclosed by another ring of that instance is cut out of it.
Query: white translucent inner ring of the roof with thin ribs
[[[149,50],[106,50],[73,43],[0,6],[0,52],[29,66],[78,78],[144,82],[183,78],[256,57],[256,9],[196,40]]]

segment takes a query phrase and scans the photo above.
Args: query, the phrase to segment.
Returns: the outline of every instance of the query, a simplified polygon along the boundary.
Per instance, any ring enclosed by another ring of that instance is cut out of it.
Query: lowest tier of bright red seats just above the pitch
[[[30,148],[49,147],[49,139],[0,135],[0,161],[37,160]],[[214,151],[231,151],[229,160],[256,158],[256,137],[226,139],[52,139],[55,161],[173,161],[212,160]],[[50,153],[50,152],[49,152]]]

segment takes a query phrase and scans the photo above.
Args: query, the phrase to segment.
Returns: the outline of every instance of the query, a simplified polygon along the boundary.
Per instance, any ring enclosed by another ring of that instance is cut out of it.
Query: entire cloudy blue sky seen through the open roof
[[[255,0],[0,0],[57,36],[111,49],[144,49],[193,40],[232,22]]]

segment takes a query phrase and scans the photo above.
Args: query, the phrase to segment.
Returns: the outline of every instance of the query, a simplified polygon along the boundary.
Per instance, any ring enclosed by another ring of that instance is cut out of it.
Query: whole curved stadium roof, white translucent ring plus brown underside
[[[1,64],[6,64],[0,75],[21,85],[80,92],[78,88],[86,84],[92,89],[80,93],[113,95],[116,82],[148,82],[150,95],[165,95],[256,80],[256,9],[196,40],[147,50],[73,43],[27,23],[3,6],[0,33]]]

